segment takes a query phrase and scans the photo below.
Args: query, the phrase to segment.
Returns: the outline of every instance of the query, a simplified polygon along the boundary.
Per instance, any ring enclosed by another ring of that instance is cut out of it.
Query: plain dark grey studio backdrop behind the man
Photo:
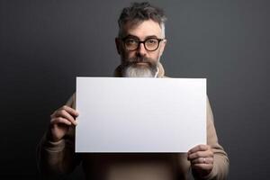
[[[268,179],[269,1],[152,1],[165,9],[167,76],[206,77],[229,179]],[[0,1],[0,178],[37,179],[35,147],[76,76],[112,76],[129,1]],[[69,178],[81,179],[80,170]]]

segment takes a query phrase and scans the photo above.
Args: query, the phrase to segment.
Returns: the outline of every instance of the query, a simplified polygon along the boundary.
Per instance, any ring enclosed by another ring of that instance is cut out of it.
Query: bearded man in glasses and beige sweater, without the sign
[[[115,39],[121,65],[114,76],[165,77],[159,62],[166,46],[166,17],[148,3],[124,8]],[[105,153],[75,154],[75,96],[51,114],[49,130],[40,141],[38,162],[43,175],[72,172],[82,163],[86,179],[98,180],[175,180],[226,179],[229,159],[219,145],[210,103],[207,106],[207,145],[198,145],[187,153]]]

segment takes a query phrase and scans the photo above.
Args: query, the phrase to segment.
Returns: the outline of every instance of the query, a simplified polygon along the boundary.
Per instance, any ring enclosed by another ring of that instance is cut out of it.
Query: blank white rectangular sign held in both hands
[[[206,144],[206,79],[76,77],[76,152],[187,152]]]

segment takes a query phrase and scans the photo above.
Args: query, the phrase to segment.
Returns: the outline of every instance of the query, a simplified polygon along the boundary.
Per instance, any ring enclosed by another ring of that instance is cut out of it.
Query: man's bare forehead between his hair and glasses
[[[148,36],[157,36],[157,38],[161,38],[161,27],[158,23],[147,20],[141,23],[126,23],[123,27],[123,32],[126,35],[137,36],[139,39],[143,40]]]

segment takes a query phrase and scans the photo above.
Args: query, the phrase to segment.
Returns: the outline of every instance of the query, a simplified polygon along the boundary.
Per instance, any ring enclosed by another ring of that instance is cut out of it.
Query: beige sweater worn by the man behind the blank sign
[[[120,75],[119,68],[115,76]],[[158,77],[164,77],[161,64]],[[75,102],[73,95],[67,105],[75,109]],[[190,162],[185,153],[75,153],[74,134],[74,128],[70,128],[65,139],[58,142],[49,141],[47,132],[44,134],[37,151],[42,175],[68,174],[79,163],[82,163],[87,180],[178,180],[188,179],[191,174]],[[229,159],[218,143],[209,101],[207,144],[214,151],[214,166],[210,175],[203,179],[226,179]]]

